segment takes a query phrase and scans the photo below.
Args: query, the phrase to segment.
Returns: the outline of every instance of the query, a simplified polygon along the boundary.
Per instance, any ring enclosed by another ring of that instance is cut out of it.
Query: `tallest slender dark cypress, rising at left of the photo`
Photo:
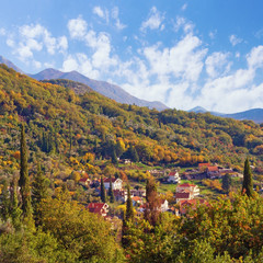
[[[20,141],[20,193],[22,197],[22,211],[25,225],[33,224],[32,205],[31,205],[31,188],[30,176],[27,168],[27,150],[25,142],[24,125],[21,126],[21,141]]]

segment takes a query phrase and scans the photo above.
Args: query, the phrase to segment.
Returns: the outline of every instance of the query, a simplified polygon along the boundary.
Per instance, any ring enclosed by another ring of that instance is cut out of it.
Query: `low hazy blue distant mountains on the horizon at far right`
[[[194,113],[208,113],[209,111],[205,110],[204,107],[196,106],[188,112]],[[238,112],[238,113],[218,113],[218,112],[209,112],[211,115],[219,116],[219,117],[227,117],[227,118],[235,118],[238,121],[253,121],[254,123],[263,123],[263,108],[251,108],[244,112]]]

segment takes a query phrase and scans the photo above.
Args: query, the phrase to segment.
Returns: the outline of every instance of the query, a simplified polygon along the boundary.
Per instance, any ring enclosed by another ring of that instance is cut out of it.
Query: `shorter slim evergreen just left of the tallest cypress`
[[[18,199],[18,180],[13,176],[11,184],[10,184],[10,214],[12,218],[12,224],[14,228],[18,230],[21,228],[21,216],[22,210],[19,207],[19,199]]]

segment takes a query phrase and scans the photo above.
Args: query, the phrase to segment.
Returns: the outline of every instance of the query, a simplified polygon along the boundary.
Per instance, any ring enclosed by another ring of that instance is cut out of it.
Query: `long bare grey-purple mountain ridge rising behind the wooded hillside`
[[[136,96],[130,95],[128,92],[123,90],[121,87],[111,84],[106,81],[98,81],[90,79],[78,71],[61,72],[56,69],[45,69],[36,75],[28,75],[36,80],[50,80],[50,79],[68,79],[73,80],[83,84],[89,85],[92,90],[112,99],[116,102],[135,104],[138,106],[147,106],[149,108],[157,108],[158,111],[167,110],[168,107],[161,102],[149,102],[140,100]]]

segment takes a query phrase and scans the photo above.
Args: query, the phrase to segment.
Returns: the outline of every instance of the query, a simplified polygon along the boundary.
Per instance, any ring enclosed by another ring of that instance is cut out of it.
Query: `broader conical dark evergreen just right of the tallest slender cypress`
[[[34,208],[34,219],[36,226],[42,225],[42,201],[47,197],[46,178],[43,175],[38,163],[37,174],[32,184],[32,204]]]

